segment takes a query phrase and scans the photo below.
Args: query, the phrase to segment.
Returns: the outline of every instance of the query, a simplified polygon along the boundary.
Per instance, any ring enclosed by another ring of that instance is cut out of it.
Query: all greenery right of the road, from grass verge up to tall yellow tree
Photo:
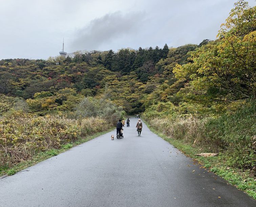
[[[254,199],[255,18],[256,7],[235,3],[217,39],[189,52],[188,63],[173,67],[175,82],[164,82],[144,99],[152,129]]]

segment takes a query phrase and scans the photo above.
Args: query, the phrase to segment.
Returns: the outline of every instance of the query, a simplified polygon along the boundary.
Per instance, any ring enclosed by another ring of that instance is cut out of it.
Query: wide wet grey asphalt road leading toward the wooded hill
[[[130,125],[123,139],[110,132],[0,179],[0,206],[256,206],[145,124],[141,137]]]

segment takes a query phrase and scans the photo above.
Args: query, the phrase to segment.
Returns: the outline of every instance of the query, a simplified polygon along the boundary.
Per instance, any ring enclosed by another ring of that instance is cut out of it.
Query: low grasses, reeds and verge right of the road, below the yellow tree
[[[255,102],[234,114],[148,119],[149,128],[189,157],[256,199]],[[218,153],[215,157],[196,156]]]

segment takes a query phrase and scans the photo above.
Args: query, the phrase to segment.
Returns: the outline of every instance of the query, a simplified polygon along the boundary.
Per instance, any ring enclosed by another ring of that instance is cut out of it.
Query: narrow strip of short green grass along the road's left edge
[[[0,176],[10,176],[10,175],[14,175],[16,172],[19,172],[27,167],[30,167],[30,166],[33,166],[43,160],[46,160],[50,157],[53,157],[53,156],[56,156],[62,152],[65,152],[66,150],[70,149],[71,147],[74,147],[74,146],[77,146],[79,144],[82,144],[84,142],[87,142],[89,140],[92,140],[98,136],[101,136],[103,134],[106,134],[110,131],[112,131],[114,128],[111,128],[107,131],[104,131],[104,132],[99,132],[99,133],[96,133],[94,135],[91,135],[91,136],[87,136],[87,137],[84,137],[84,138],[80,138],[74,142],[70,142],[70,143],[67,143],[67,144],[63,144],[61,145],[60,149],[50,149],[50,150],[47,150],[45,152],[40,152],[38,154],[36,154],[35,156],[32,157],[32,159],[30,160],[26,160],[26,161],[22,161],[16,165],[14,165],[13,167],[1,167],[0,168]],[[0,177],[1,179],[1,177]]]

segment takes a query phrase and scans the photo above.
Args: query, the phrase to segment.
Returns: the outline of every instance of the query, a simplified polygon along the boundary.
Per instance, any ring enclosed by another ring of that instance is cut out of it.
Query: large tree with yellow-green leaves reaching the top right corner
[[[255,98],[256,83],[256,6],[239,0],[226,23],[219,30],[218,39],[191,52],[191,63],[177,65],[177,78],[191,80],[193,98],[215,101]]]

